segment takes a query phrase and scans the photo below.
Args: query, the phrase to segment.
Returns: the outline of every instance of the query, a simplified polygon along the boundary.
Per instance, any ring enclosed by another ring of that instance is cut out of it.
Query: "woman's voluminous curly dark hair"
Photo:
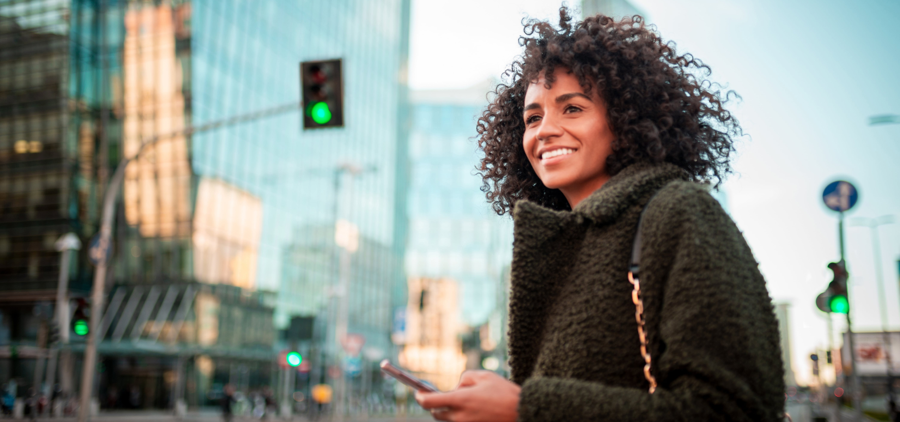
[[[609,175],[637,162],[671,163],[699,182],[722,183],[732,172],[738,121],[724,108],[734,91],[722,93],[710,82],[710,69],[690,54],[678,54],[638,15],[616,21],[598,14],[572,25],[560,8],[558,27],[527,20],[519,38],[524,52],[503,74],[493,101],[478,120],[478,146],[484,151],[482,191],[494,211],[512,211],[527,199],[554,210],[569,210],[558,189],[549,189],[528,161],[522,138],[528,85],[543,71],[547,88],[556,68],[577,76],[585,94],[599,89],[615,140],[607,158]]]

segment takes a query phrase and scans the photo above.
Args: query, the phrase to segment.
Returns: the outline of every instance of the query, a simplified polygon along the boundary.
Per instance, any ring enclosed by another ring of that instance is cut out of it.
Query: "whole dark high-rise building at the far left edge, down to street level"
[[[0,381],[13,393],[42,381],[60,270],[72,298],[90,286],[85,248],[60,268],[54,246],[64,233],[86,244],[96,231],[109,170],[98,148],[115,141],[99,130],[111,93],[98,84],[103,45],[91,22],[79,2],[0,3]],[[70,391],[68,357],[57,380]]]

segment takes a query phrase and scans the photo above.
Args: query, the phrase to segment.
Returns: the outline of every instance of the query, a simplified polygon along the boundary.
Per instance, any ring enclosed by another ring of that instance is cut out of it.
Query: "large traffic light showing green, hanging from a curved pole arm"
[[[303,129],[344,126],[344,82],[341,60],[300,64]]]

